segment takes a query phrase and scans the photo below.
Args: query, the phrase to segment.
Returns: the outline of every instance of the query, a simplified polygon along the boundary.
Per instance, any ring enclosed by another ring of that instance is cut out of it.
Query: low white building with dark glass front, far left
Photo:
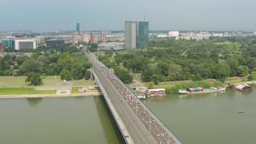
[[[15,50],[37,49],[37,39],[15,39]]]

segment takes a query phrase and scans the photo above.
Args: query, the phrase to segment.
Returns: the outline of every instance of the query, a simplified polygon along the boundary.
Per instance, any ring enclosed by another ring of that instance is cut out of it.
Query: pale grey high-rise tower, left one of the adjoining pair
[[[125,21],[125,51],[136,49],[137,21]]]

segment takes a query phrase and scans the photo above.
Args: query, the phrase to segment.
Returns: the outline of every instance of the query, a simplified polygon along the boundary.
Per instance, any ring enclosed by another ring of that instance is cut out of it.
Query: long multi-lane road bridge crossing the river
[[[182,143],[106,65],[92,53],[92,74],[126,143]]]

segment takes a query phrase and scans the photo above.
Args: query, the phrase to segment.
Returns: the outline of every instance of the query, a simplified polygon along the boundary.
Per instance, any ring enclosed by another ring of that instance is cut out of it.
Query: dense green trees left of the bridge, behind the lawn
[[[14,61],[18,65],[14,64]],[[0,75],[27,75],[38,73],[44,76],[61,75],[61,79],[83,79],[91,63],[83,53],[35,53],[31,57],[5,55],[0,57]]]

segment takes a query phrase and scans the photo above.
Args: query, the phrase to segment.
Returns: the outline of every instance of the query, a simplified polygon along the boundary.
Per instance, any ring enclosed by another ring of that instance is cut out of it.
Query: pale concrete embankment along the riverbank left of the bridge
[[[94,93],[74,93],[74,94],[17,94],[0,95],[0,98],[46,98],[46,97],[81,97],[81,96],[100,96],[101,92]]]

